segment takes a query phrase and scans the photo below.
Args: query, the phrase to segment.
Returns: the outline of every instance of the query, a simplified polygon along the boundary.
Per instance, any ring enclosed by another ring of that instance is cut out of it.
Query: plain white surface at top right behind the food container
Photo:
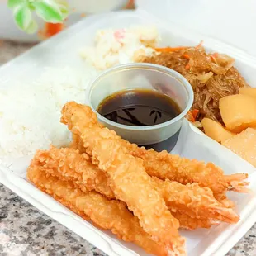
[[[256,56],[254,0],[137,0],[136,6]]]

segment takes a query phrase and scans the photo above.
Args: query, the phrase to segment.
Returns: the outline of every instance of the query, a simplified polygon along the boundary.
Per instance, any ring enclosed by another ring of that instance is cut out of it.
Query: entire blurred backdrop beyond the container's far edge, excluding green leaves
[[[32,35],[17,28],[7,0],[0,0],[0,64],[92,14],[142,9],[168,22],[221,40],[256,57],[255,0],[69,0],[71,13],[64,24],[35,17],[39,30]]]

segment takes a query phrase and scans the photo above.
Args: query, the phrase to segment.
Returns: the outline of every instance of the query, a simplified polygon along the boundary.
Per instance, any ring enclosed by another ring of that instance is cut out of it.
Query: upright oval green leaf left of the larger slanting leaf
[[[21,30],[26,31],[26,29],[31,25],[32,21],[31,10],[29,7],[27,7],[26,4],[22,4],[15,7],[13,12],[17,26],[19,26]]]

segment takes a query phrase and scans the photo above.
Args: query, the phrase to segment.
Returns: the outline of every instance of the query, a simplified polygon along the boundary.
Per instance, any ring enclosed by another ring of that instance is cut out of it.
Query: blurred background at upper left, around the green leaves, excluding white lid
[[[84,17],[101,12],[135,9],[135,0],[70,0],[69,6],[71,13],[64,24],[50,24],[35,17],[39,30],[29,35],[15,24],[12,10],[7,7],[7,0],[0,0],[0,65]]]

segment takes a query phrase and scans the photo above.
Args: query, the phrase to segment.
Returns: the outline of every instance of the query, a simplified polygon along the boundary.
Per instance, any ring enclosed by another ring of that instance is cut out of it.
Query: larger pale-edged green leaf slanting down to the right
[[[40,2],[33,2],[33,5],[36,8],[37,15],[46,22],[60,23],[64,21],[64,15],[54,1],[43,0]]]

